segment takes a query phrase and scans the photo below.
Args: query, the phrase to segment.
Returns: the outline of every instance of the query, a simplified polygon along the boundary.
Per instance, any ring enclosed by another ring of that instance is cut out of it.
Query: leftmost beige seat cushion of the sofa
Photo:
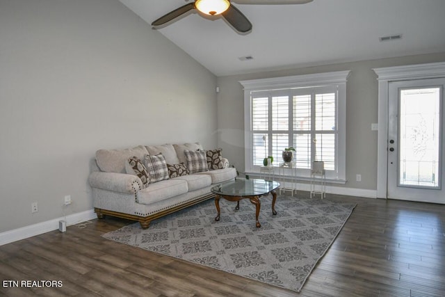
[[[138,203],[149,204],[175,197],[188,192],[187,182],[184,179],[168,179],[138,192]]]

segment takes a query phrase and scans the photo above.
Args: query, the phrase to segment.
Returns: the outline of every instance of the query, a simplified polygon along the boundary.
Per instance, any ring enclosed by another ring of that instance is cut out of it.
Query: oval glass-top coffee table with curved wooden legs
[[[280,183],[264,180],[264,179],[236,179],[232,182],[226,182],[224,184],[219,184],[218,186],[213,186],[211,192],[215,193],[215,205],[216,211],[218,211],[218,216],[215,220],[220,220],[220,198],[224,198],[229,201],[236,201],[235,209],[239,209],[239,201],[242,199],[249,199],[252,204],[256,207],[255,219],[257,221],[257,227],[261,227],[259,223],[258,216],[259,210],[261,209],[261,202],[259,198],[262,195],[268,193],[272,194],[272,214],[277,214],[275,211],[275,201],[277,200],[277,193],[275,189],[280,186]]]

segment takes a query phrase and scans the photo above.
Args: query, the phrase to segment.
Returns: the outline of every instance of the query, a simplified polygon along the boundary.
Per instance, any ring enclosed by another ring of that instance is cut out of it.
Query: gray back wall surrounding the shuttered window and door
[[[218,77],[218,145],[239,171],[244,170],[244,93],[238,81],[351,70],[346,90],[346,179],[348,188],[377,189],[378,81],[373,68],[445,61],[445,53],[387,58],[316,67]],[[362,182],[355,182],[355,175]],[[339,186],[339,185],[337,185]]]

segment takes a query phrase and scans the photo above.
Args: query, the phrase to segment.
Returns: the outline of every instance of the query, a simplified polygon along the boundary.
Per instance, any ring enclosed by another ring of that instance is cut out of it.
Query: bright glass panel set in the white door
[[[400,90],[398,186],[439,188],[440,88]]]

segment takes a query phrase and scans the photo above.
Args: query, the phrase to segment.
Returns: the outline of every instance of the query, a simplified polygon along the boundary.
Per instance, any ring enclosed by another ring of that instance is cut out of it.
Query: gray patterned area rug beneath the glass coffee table
[[[214,220],[214,200],[154,220],[147,230],[139,223],[108,232],[106,239],[137,246],[245,278],[300,291],[348,220],[355,204],[320,198],[279,195],[261,198],[261,227],[249,200],[220,199],[221,218]]]

